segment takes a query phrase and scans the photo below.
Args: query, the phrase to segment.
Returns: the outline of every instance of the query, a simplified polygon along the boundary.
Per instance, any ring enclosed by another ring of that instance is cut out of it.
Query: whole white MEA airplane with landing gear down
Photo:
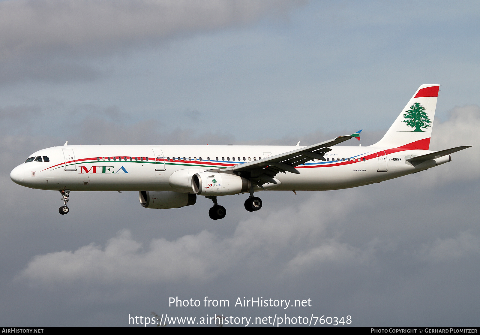
[[[249,194],[245,209],[262,208],[255,192],[325,191],[358,187],[417,173],[451,161],[470,146],[429,150],[439,85],[423,84],[384,137],[369,146],[360,131],[309,146],[297,145],[68,145],[33,153],[12,170],[17,184],[60,191],[62,215],[71,191],[139,191],[144,208],[180,208],[197,195],[213,201],[217,220],[226,209],[218,196]]]

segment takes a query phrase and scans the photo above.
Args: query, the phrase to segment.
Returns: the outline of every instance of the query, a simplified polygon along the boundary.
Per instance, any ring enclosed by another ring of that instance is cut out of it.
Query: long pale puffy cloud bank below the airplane
[[[320,215],[319,202],[332,208],[332,215]],[[352,202],[356,202],[353,197],[340,201],[316,194],[297,208],[242,221],[232,236],[222,238],[203,230],[171,241],[152,239],[147,250],[132,239],[129,230],[121,230],[104,248],[89,244],[75,251],[35,256],[20,278],[43,284],[207,281],[233,267],[271,266],[279,257],[287,257],[286,262],[293,258],[287,267],[298,273],[312,263],[318,266],[357,257],[355,248],[324,234],[328,222],[338,216],[335,209],[346,212],[347,206],[354,208]],[[304,248],[311,249],[305,253]]]

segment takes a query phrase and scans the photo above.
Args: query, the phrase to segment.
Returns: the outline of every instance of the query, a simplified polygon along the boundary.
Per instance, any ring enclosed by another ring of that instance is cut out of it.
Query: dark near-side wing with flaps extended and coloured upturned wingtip
[[[330,141],[309,145],[284,154],[239,164],[230,168],[211,169],[208,170],[208,172],[235,173],[241,177],[250,179],[250,181],[260,187],[265,183],[276,184],[273,177],[276,176],[277,173],[291,172],[300,174],[295,167],[305,164],[312,159],[326,160],[324,158],[325,153],[332,151],[329,146],[345,142],[353,137],[360,140],[360,132],[361,130],[351,135],[338,136]]]

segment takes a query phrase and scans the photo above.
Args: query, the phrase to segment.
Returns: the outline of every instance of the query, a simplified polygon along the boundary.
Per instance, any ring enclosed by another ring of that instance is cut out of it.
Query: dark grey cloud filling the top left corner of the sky
[[[0,83],[92,80],[84,58],[283,15],[288,0],[8,0],[0,2]]]

